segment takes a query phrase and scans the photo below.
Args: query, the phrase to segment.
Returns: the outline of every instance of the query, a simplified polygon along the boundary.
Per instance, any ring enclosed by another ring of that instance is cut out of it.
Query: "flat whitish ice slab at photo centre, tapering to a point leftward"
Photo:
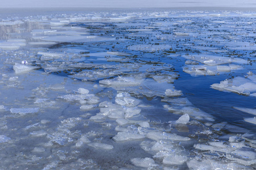
[[[135,79],[132,77],[118,76],[114,79],[100,80],[99,83],[108,86],[139,86],[143,82],[143,79]]]

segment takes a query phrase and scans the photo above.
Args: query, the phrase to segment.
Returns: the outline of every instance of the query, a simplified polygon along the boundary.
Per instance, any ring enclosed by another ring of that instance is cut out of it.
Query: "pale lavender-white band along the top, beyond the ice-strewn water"
[[[0,0],[0,7],[256,7],[256,0]]]

